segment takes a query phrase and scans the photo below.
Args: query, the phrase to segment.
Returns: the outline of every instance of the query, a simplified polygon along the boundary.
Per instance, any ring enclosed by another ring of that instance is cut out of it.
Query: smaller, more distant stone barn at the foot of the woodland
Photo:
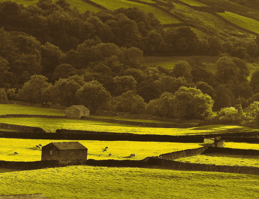
[[[81,119],[82,116],[89,116],[90,110],[83,105],[72,105],[66,109],[66,116],[72,119]]]

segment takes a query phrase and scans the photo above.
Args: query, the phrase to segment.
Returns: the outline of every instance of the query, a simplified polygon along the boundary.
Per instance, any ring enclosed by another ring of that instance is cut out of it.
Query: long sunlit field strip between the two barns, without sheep
[[[53,118],[0,118],[1,123],[40,127],[55,132],[56,129],[88,130],[116,133],[159,134],[159,135],[197,135],[223,132],[253,130],[247,127],[231,125],[213,125],[194,128],[152,128],[116,123],[106,123],[78,119]]]

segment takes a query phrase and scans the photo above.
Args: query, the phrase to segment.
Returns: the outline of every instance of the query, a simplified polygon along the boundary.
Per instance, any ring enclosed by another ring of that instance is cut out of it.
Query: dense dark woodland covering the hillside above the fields
[[[0,44],[0,100],[185,119],[214,110],[218,119],[257,121],[259,70],[248,81],[245,59],[258,58],[259,37],[201,37],[137,7],[82,13],[65,0],[7,0]],[[143,56],[193,57],[166,69],[141,65]],[[219,56],[216,72],[198,56]]]

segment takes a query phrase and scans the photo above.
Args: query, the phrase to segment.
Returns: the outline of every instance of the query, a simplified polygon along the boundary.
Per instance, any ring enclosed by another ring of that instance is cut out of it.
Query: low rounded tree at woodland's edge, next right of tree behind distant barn
[[[114,109],[118,112],[130,112],[133,114],[143,113],[146,103],[140,96],[134,94],[133,91],[123,93],[113,99]]]

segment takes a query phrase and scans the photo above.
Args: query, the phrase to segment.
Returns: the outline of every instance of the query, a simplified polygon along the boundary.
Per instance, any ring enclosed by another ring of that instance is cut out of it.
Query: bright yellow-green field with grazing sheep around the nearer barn
[[[36,148],[36,145],[41,144],[44,146],[50,142],[71,142],[71,140],[0,138],[0,160],[24,162],[39,161],[41,160],[41,151]],[[135,157],[130,158],[131,160],[142,160],[146,157],[159,156],[163,153],[202,147],[199,143],[93,140],[79,140],[78,142],[88,148],[87,159],[95,160],[125,160],[126,158],[124,157],[127,157],[132,153],[135,154]],[[108,149],[103,152],[105,147],[108,147]],[[14,152],[18,153],[18,155],[14,155]],[[109,154],[112,155],[108,156]]]

